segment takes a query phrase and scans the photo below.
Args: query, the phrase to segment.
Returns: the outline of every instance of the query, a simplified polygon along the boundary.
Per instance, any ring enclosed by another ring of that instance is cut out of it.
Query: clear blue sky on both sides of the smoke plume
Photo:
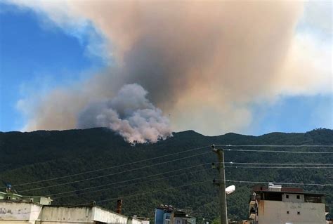
[[[17,107],[20,99],[27,95],[39,99],[53,88],[70,86],[107,67],[103,53],[87,50],[103,37],[89,23],[73,33],[27,8],[8,4],[0,8],[0,131],[20,131],[27,123]],[[298,29],[308,31],[306,21]],[[322,29],[311,30],[322,39],[332,38]],[[333,129],[332,95],[284,95],[274,103],[253,103],[249,108],[253,121],[243,133]]]

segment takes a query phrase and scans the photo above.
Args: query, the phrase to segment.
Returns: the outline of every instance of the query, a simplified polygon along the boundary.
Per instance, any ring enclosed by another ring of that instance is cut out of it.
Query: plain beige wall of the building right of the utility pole
[[[325,204],[259,201],[259,224],[325,224]],[[289,211],[289,213],[287,213]],[[297,212],[300,212],[297,214]]]

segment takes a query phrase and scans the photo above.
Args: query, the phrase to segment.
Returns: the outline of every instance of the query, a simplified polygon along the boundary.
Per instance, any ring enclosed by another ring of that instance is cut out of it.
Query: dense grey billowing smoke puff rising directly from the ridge
[[[79,129],[108,127],[129,143],[156,143],[172,135],[169,119],[152,105],[138,84],[124,85],[111,100],[91,103],[77,121]]]

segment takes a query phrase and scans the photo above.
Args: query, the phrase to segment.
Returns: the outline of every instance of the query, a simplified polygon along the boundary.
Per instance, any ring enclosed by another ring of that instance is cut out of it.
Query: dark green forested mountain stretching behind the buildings
[[[96,201],[96,204],[100,206],[115,210],[117,199],[123,199],[125,215],[136,214],[153,218],[155,206],[171,204],[197,216],[200,223],[202,218],[212,220],[218,216],[218,189],[210,182],[210,180],[218,178],[218,172],[211,169],[210,165],[211,162],[216,162],[216,154],[211,152],[211,147],[209,147],[211,144],[333,145],[333,130],[316,129],[307,133],[269,133],[258,137],[235,133],[209,137],[202,136],[195,131],[183,131],[174,133],[173,137],[155,144],[137,144],[135,146],[126,143],[121,136],[109,129],[103,128],[30,133],[0,132],[0,183],[4,187],[7,183],[11,183],[13,188],[22,195],[47,196],[67,192],[53,195],[53,204],[83,204]],[[203,146],[207,147],[192,150]],[[237,147],[237,149],[249,148]],[[271,147],[256,147],[255,149],[277,150]],[[333,152],[333,148],[328,147],[282,147],[279,150]],[[164,156],[167,154],[171,155]],[[158,158],[150,159],[154,157]],[[234,163],[324,164],[333,161],[333,154],[226,151],[225,157],[226,162]],[[138,162],[141,160],[145,161]],[[172,160],[174,162],[168,162]],[[122,164],[128,165],[118,166]],[[139,169],[143,166],[147,167]],[[226,164],[226,166],[236,165]],[[185,169],[188,167],[192,168]],[[82,174],[71,176],[76,173]],[[164,174],[157,175],[158,173]],[[62,176],[68,177],[58,178]],[[150,177],[142,178],[145,176]],[[172,177],[166,178],[168,176]],[[48,179],[53,180],[39,182]],[[283,183],[333,183],[333,169],[227,167],[226,179]],[[198,183],[204,180],[207,182]],[[71,183],[67,184],[69,182]],[[31,184],[20,185],[22,183]],[[198,184],[190,185],[192,183]],[[254,184],[231,182],[227,184],[236,185],[236,192],[228,195],[229,217],[247,218],[251,187]],[[178,187],[181,185],[188,186]],[[176,188],[169,189],[171,187]],[[40,189],[31,190],[35,188]],[[80,190],[84,188],[89,189]],[[332,186],[311,186],[306,187],[306,190],[326,193],[327,204],[330,204],[331,208],[333,207]],[[86,193],[84,194],[84,192]]]

